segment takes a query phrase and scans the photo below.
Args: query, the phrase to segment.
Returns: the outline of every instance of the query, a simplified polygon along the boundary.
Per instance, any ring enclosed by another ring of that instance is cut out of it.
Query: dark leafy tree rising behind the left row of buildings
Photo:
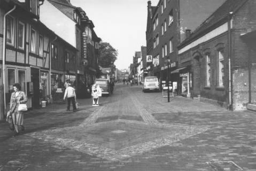
[[[98,64],[102,67],[110,67],[111,62],[117,60],[118,51],[114,49],[110,43],[99,43],[99,59]]]

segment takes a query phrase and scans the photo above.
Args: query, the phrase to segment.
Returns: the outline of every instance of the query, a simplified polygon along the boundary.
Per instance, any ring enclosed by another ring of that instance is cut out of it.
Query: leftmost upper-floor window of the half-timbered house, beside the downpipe
[[[6,17],[6,42],[14,45],[14,18],[11,16]]]

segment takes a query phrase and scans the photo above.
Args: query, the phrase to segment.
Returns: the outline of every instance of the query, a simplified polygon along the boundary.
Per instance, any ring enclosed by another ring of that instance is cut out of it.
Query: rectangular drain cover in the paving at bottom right
[[[233,161],[215,161],[215,162],[206,162],[209,166],[211,166],[216,171],[240,171],[244,170],[239,167]]]

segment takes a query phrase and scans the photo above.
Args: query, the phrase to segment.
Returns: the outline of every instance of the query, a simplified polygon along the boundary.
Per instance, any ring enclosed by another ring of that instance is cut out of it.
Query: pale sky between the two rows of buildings
[[[158,0],[151,1],[156,6]],[[95,32],[103,42],[118,50],[118,69],[128,69],[135,51],[146,45],[148,0],[71,0],[94,22]]]

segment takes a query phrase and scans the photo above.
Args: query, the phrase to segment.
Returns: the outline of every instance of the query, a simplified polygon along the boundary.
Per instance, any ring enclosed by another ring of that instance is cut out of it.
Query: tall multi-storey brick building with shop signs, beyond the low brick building
[[[161,82],[169,74],[169,81],[175,85],[179,82],[179,71],[183,68],[178,68],[177,45],[184,40],[185,30],[195,30],[223,1],[160,0],[157,6],[148,2],[146,41],[147,53],[153,57],[153,63],[148,64],[151,75]]]

